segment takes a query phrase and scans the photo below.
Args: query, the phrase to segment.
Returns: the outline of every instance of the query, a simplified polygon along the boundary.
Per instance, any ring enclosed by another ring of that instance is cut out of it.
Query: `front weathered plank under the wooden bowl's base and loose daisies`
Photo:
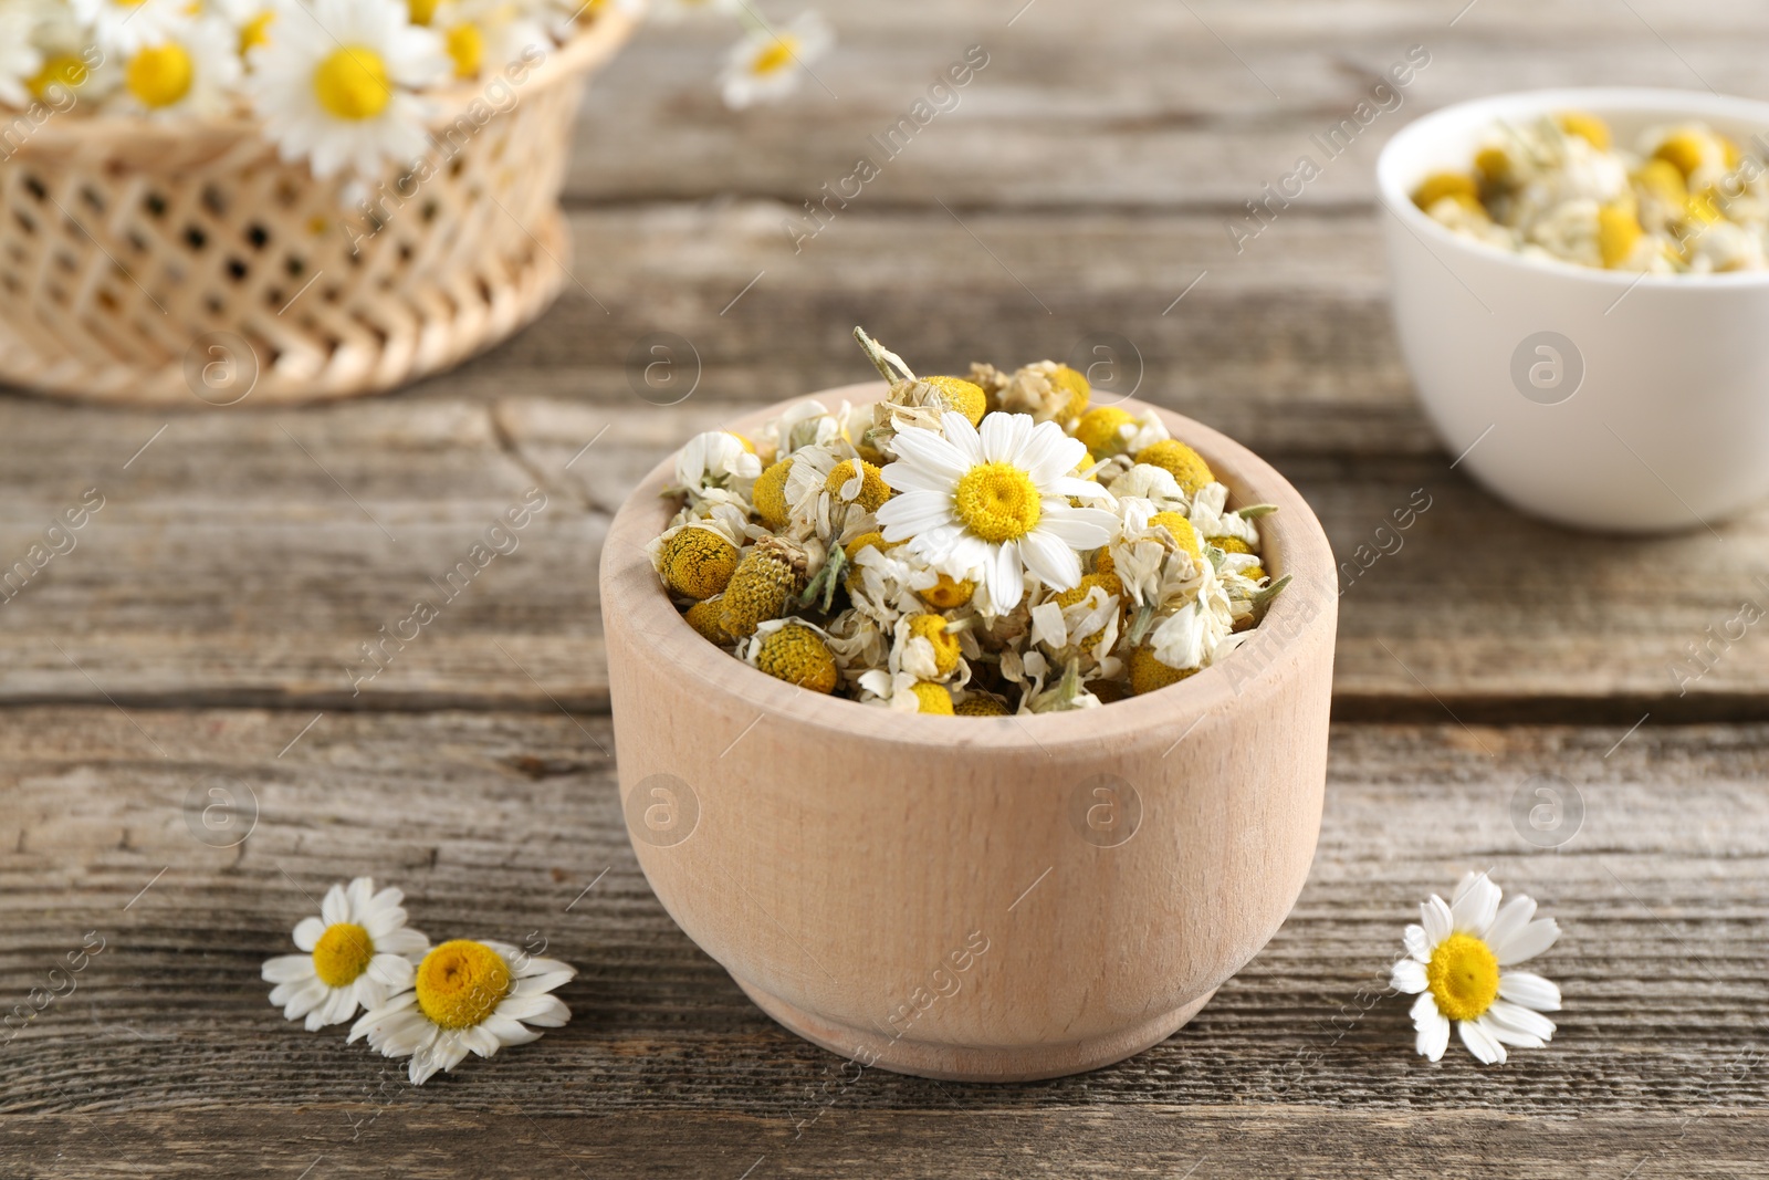
[[[1643,1155],[1679,1168],[1765,1159],[1751,1145],[1769,1134],[1769,727],[1339,725],[1314,870],[1265,952],[1132,1061],[987,1088],[853,1070],[844,1084],[830,1054],[752,1008],[639,874],[596,748],[603,720],[327,715],[288,747],[297,731],[281,711],[0,713],[0,994],[23,996],[85,932],[106,939],[78,991],[0,1046],[9,1161],[37,1161],[37,1175],[64,1150],[69,1168],[156,1157],[189,1171],[249,1120],[278,1159],[308,1152],[290,1173],[324,1153],[366,1175],[433,1162],[455,1130],[513,1113],[596,1175],[649,1175],[658,1159],[701,1171],[743,1152],[731,1175],[777,1152],[787,1171],[840,1171],[904,1113],[918,1129],[906,1143],[920,1146],[883,1159],[907,1166],[939,1141],[1014,1129],[1053,1162],[968,1150],[978,1168],[1017,1173],[1081,1168],[1086,1152],[1061,1146],[1079,1129],[1116,1138],[1148,1169],[1160,1145],[1191,1145],[1178,1173],[1208,1153],[1215,1175],[1307,1134],[1325,1139],[1302,1159],[1364,1143],[1353,1155],[1394,1175],[1390,1161],[1454,1139],[1438,1138],[1447,1125],[1481,1134],[1488,1146],[1470,1153],[1514,1145],[1495,1175],[1523,1175],[1504,1168],[1525,1159],[1541,1161],[1528,1175],[1566,1175],[1555,1168],[1571,1166],[1560,1152],[1573,1141],[1594,1161],[1636,1152],[1622,1173]],[[182,803],[209,775],[257,798],[239,847],[200,844],[186,823]],[[1562,775],[1583,801],[1583,826],[1558,849],[1512,826],[1530,775]],[[1505,1069],[1459,1051],[1415,1060],[1406,1001],[1383,994],[1419,897],[1470,867],[1530,892],[1566,929],[1543,961],[1567,996],[1562,1031]],[[382,1092],[380,1058],[283,1024],[257,977],[308,897],[354,874],[402,885],[433,938],[538,932],[582,969],[563,992],[573,1023],[421,1092]],[[189,1122],[180,1132],[168,1118]],[[1507,1138],[1516,1125],[1567,1139]],[[600,1153],[612,1141],[662,1150],[685,1129],[685,1155]],[[534,1168],[554,1175],[559,1161],[541,1155]]]

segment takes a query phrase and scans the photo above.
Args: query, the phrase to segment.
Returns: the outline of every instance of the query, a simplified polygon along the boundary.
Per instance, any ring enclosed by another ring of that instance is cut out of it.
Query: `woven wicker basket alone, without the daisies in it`
[[[508,96],[444,92],[448,150],[403,191],[387,175],[380,221],[341,179],[283,163],[251,120],[48,119],[0,163],[0,382],[287,403],[389,389],[495,345],[570,281],[571,120],[630,34],[607,12]]]

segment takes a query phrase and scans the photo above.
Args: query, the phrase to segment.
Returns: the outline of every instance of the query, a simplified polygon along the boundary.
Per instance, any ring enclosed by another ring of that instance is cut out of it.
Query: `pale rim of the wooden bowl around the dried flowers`
[[[745,414],[724,428],[743,432],[759,426],[789,405],[805,400],[833,407],[842,400],[851,403],[876,402],[886,391],[883,380],[837,386],[785,398]],[[1275,628],[1295,628],[1295,633],[1263,667],[1242,669],[1238,685],[1231,679],[1233,660],[1251,656],[1249,647],[1254,642],[1231,653],[1222,663],[1159,692],[1129,697],[1099,709],[1038,716],[976,718],[900,713],[844,697],[826,697],[778,681],[713,646],[688,626],[663,591],[651,557],[644,552],[646,543],[663,531],[665,522],[676,511],[674,502],[662,495],[662,488],[674,472],[674,451],[633,488],[609,525],[601,556],[603,630],[640,632],[651,640],[655,658],[670,669],[685,693],[708,699],[727,697],[747,702],[748,708],[759,711],[759,716],[780,715],[791,718],[793,724],[826,731],[831,736],[884,743],[1021,752],[1076,745],[1097,748],[1102,741],[1114,743],[1137,734],[1146,736],[1150,731],[1166,732],[1215,709],[1256,708],[1258,702],[1272,695],[1283,676],[1298,674],[1298,658],[1311,647],[1309,632],[1336,628],[1337,570],[1327,534],[1302,494],[1251,449],[1183,414],[1146,402],[1125,402],[1123,407],[1132,412],[1153,409],[1160,414],[1173,437],[1198,449],[1217,478],[1229,485],[1235,502],[1267,502],[1279,508],[1260,522],[1263,550],[1279,557],[1279,570],[1272,570],[1274,577],[1290,573],[1295,580],[1277,596],[1260,626],[1268,635],[1274,635]],[[1314,610],[1307,612],[1311,603]],[[1329,632],[1325,637],[1329,653],[1332,639]],[[614,708],[621,708],[619,701],[614,702]]]

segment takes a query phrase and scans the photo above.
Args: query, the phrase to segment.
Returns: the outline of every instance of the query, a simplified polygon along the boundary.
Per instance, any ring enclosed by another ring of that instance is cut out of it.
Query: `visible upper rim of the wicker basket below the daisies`
[[[570,78],[580,76],[614,55],[633,34],[639,21],[621,9],[601,12],[596,21],[578,32],[571,41],[559,46],[547,60],[536,67],[522,83],[522,90],[536,87],[554,87]],[[428,127],[439,129],[453,124],[465,110],[485,96],[486,81],[462,81],[426,97],[435,104]],[[518,90],[520,94],[520,90]],[[0,115],[5,111],[0,110]],[[23,117],[19,111],[14,117]],[[4,119],[0,119],[4,122]],[[19,159],[37,152],[58,154],[69,150],[104,149],[106,145],[127,143],[131,150],[161,145],[189,147],[193,143],[212,143],[218,149],[239,143],[248,138],[262,138],[264,124],[248,117],[205,119],[205,120],[161,120],[145,115],[108,113],[80,119],[48,119],[32,136],[19,145],[11,159]],[[264,140],[274,150],[274,143]],[[0,161],[7,163],[7,161]]]

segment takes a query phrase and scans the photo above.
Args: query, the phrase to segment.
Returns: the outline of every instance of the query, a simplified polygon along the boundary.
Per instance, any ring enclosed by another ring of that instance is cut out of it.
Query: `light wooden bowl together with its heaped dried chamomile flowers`
[[[886,382],[699,435],[610,525],[633,849],[826,1047],[992,1081],[1116,1061],[1302,888],[1332,550],[1199,423],[862,340]]]

